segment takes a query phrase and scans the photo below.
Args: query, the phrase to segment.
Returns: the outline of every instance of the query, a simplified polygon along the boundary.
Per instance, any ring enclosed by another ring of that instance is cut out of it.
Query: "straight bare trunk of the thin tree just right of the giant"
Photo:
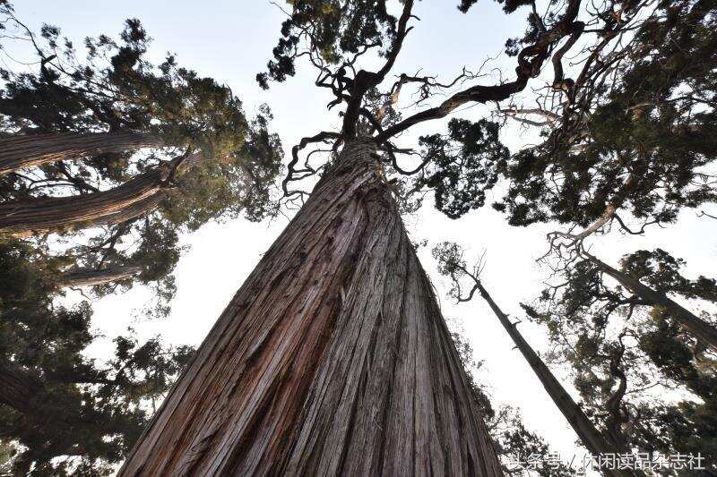
[[[566,388],[560,384],[555,375],[549,370],[548,366],[545,365],[540,359],[538,353],[532,349],[531,345],[525,341],[523,335],[515,328],[515,325],[510,322],[508,316],[498,307],[497,303],[493,301],[493,298],[488,294],[488,291],[483,287],[483,284],[477,282],[478,291],[480,296],[488,302],[488,306],[495,313],[500,324],[503,325],[505,331],[513,340],[515,347],[517,347],[528,364],[531,365],[532,371],[540,379],[540,384],[543,385],[550,398],[553,400],[557,408],[565,416],[567,422],[573,427],[575,434],[583,442],[583,445],[591,452],[593,456],[600,454],[619,454],[625,453],[627,450],[619,448],[608,439],[600,434],[600,431],[595,428],[588,416],[583,413],[583,409],[577,403],[574,402],[573,398],[567,393]],[[612,470],[602,469],[602,472],[609,476],[616,477],[636,477],[644,476],[644,473],[636,470]]]

